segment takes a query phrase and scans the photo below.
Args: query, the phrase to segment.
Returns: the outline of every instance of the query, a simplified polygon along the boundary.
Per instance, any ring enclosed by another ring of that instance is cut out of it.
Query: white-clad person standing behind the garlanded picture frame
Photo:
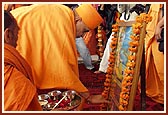
[[[117,9],[121,13],[120,20],[135,21],[136,16],[138,16],[139,14],[135,11],[130,12],[130,10],[132,10],[135,5],[136,4],[118,4]],[[114,33],[112,32],[109,38],[112,38],[113,34]],[[95,71],[94,73],[101,73],[101,72],[106,73],[109,64],[108,59],[111,52],[110,43],[111,39],[108,39],[102,60],[100,61],[99,70]]]

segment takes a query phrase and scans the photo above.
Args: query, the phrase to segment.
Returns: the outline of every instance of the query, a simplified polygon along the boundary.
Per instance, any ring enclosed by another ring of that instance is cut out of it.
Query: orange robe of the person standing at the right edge
[[[160,4],[151,4],[149,14],[152,21],[146,27],[146,93],[154,101],[164,103],[164,55],[158,50],[154,36],[159,19]]]

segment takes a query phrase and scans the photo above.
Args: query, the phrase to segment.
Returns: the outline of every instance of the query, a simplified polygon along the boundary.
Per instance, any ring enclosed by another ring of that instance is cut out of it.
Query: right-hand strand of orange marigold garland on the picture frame
[[[142,23],[148,23],[151,21],[151,17],[148,14],[142,13],[140,16],[136,18],[135,24],[132,24],[132,35],[130,38],[132,41],[129,43],[129,51],[130,55],[128,56],[128,62],[126,64],[126,69],[124,71],[124,78],[122,80],[122,88],[120,92],[119,98],[119,106],[118,109],[120,111],[126,111],[129,102],[129,94],[132,86],[132,80],[134,75],[134,68],[135,68],[135,60],[136,60],[136,52],[139,46],[139,39],[140,39],[140,31],[142,28]]]

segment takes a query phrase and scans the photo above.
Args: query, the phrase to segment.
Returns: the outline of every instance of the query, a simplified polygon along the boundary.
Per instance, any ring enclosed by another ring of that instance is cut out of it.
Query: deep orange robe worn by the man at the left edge
[[[4,65],[4,110],[42,110],[31,81],[30,66],[14,47],[7,44],[4,45]]]

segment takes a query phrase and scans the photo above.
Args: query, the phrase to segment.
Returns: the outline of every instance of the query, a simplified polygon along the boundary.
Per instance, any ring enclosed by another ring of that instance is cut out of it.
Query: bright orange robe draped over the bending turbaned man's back
[[[36,86],[88,91],[79,80],[73,11],[59,4],[36,4],[11,13],[20,27],[17,50],[33,68]]]

